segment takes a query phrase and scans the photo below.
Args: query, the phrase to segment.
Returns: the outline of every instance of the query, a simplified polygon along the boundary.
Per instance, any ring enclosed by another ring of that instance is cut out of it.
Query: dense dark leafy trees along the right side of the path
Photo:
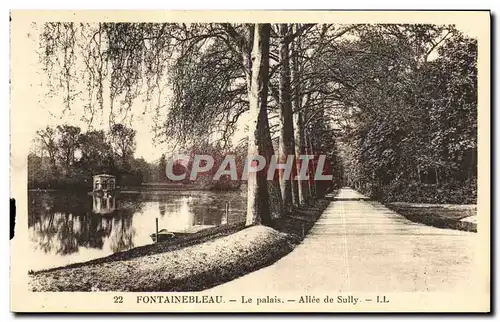
[[[343,95],[356,101],[342,144],[348,184],[382,201],[475,202],[476,40],[380,26],[349,47],[378,54],[340,63],[357,87]]]

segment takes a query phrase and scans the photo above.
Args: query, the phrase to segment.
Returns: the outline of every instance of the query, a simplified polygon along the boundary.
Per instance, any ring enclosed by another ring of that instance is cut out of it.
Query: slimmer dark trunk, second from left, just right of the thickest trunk
[[[279,112],[281,121],[281,130],[279,138],[279,163],[285,164],[288,156],[293,157],[293,164],[295,165],[295,139],[293,130],[293,111],[291,102],[291,88],[290,88],[290,54],[286,36],[288,34],[288,25],[280,25],[280,74],[279,74]],[[294,171],[295,170],[295,171]],[[299,203],[298,193],[292,195],[292,186],[295,185],[293,190],[297,191],[297,182],[291,181],[296,175],[296,167],[292,167],[290,178],[284,177],[284,171],[279,171],[279,180],[281,187],[281,195],[283,198],[284,211],[290,213],[293,204]],[[295,197],[295,198],[294,198]]]

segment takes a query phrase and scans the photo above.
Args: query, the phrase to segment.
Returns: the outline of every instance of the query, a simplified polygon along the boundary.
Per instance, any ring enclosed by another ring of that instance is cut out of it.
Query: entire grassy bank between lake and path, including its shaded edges
[[[85,263],[29,274],[33,291],[197,291],[274,263],[300,243],[327,200],[300,207],[272,227],[244,223],[200,231]]]

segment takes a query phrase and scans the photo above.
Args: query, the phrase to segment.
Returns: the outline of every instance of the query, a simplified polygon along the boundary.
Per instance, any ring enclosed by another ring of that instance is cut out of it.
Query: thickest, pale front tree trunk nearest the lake
[[[255,24],[252,49],[252,67],[248,100],[248,155],[254,156],[265,152],[263,145],[263,132],[265,120],[262,107],[267,104],[268,76],[269,76],[269,24]],[[267,110],[265,111],[267,120]],[[260,126],[258,126],[260,123]],[[259,171],[250,172],[248,175],[248,198],[246,225],[265,224],[271,222],[269,193],[267,188],[267,173]]]

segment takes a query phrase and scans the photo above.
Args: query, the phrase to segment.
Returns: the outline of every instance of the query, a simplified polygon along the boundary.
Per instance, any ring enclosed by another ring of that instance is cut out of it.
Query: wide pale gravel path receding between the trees
[[[477,234],[411,222],[342,189],[304,241],[273,265],[214,292],[472,291]]]

